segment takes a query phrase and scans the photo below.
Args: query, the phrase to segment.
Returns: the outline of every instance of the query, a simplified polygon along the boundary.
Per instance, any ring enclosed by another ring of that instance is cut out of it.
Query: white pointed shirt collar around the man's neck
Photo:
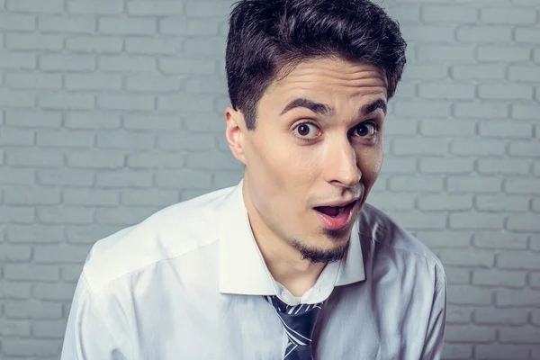
[[[275,280],[266,267],[251,231],[242,194],[243,181],[235,186],[220,209],[220,293],[274,295]],[[328,270],[327,270],[328,269]],[[347,256],[325,267],[333,285],[365,280],[364,259],[356,220]],[[324,271],[323,271],[324,273]],[[329,276],[327,275],[328,279]]]

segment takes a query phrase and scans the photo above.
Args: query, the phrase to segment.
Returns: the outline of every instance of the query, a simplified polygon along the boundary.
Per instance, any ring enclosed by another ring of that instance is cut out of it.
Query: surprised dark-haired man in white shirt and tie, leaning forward
[[[365,203],[405,65],[368,0],[242,0],[230,16],[235,187],[98,241],[63,360],[437,359],[446,278]]]

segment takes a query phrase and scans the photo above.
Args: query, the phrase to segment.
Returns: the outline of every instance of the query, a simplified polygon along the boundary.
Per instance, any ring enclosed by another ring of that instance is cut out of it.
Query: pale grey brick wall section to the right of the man
[[[540,2],[385,2],[409,40],[371,201],[446,266],[446,359],[540,359]]]

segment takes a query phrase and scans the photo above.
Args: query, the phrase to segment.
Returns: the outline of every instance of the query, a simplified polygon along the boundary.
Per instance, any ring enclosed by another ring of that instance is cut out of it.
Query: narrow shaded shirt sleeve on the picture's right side
[[[446,328],[446,276],[438,272],[437,288],[429,317],[428,333],[424,342],[422,359],[437,360],[441,357]]]

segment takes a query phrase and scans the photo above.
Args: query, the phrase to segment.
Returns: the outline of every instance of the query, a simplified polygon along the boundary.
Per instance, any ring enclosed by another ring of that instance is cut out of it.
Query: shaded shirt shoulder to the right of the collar
[[[361,237],[371,238],[378,247],[394,255],[407,257],[411,262],[427,263],[436,268],[437,275],[446,282],[444,267],[439,258],[423,243],[403,229],[396,221],[371,204],[365,203],[360,214]]]

